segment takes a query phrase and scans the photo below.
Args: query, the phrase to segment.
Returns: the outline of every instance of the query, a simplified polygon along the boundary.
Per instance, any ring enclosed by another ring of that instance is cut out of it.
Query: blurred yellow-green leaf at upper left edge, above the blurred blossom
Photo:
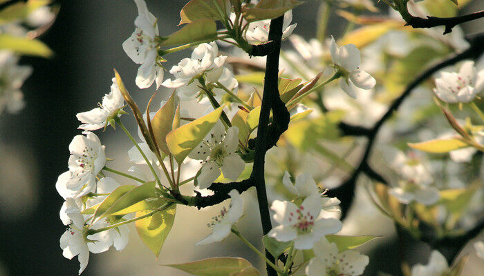
[[[26,37],[14,37],[9,34],[0,34],[0,49],[12,50],[18,55],[30,55],[37,57],[50,57],[52,50],[37,39]]]

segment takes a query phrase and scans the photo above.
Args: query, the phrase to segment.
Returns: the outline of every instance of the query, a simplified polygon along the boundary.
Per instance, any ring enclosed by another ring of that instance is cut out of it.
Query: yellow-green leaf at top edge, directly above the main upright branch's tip
[[[247,21],[274,19],[301,5],[301,3],[297,0],[261,0],[254,8],[245,6],[242,13]]]

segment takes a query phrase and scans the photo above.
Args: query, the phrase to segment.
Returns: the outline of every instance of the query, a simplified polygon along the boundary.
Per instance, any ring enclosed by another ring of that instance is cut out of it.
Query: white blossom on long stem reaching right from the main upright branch
[[[348,44],[338,48],[335,39],[331,37],[329,50],[336,69],[342,74],[339,86],[346,94],[355,98],[355,86],[364,90],[369,90],[375,86],[375,79],[369,73],[360,70],[361,55],[355,44]]]

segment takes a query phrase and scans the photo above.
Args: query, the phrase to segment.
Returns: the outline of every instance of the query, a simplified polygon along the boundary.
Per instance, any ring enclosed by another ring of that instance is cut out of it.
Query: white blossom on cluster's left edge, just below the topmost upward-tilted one
[[[96,187],[96,175],[106,164],[105,146],[100,139],[89,131],[76,135],[69,144],[69,170],[60,175],[55,184],[57,192],[64,199],[81,197],[91,193]]]

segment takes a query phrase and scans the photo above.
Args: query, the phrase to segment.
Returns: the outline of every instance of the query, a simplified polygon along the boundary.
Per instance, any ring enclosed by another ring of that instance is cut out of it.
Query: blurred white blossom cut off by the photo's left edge
[[[24,108],[24,94],[20,88],[30,74],[30,66],[19,66],[19,57],[8,50],[0,50],[0,114],[6,109],[16,113]]]

